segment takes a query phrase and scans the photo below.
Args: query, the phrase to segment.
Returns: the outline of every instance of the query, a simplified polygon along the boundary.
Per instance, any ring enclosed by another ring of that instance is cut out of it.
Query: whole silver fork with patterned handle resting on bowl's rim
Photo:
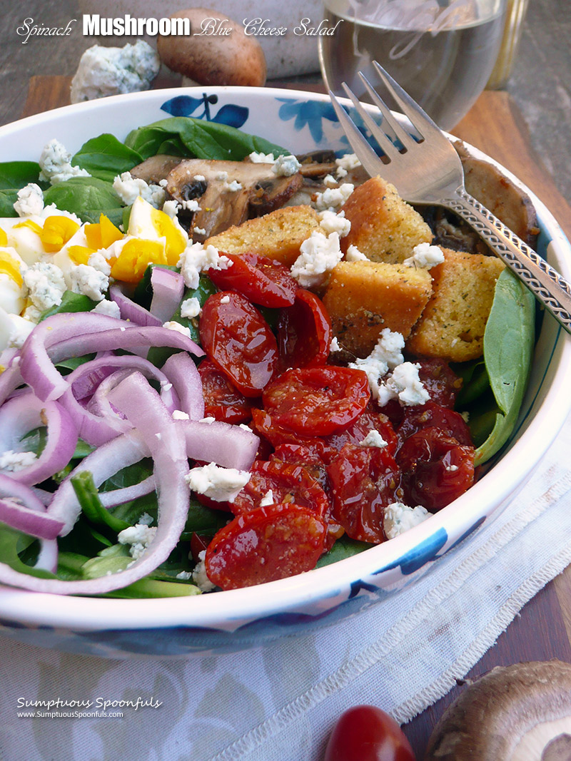
[[[383,126],[372,116],[345,82],[343,88],[384,153],[381,159],[329,91],[337,118],[365,170],[393,184],[409,203],[445,206],[480,234],[494,253],[528,286],[541,304],[571,333],[571,285],[533,249],[499,221],[464,188],[464,170],[458,153],[444,132],[396,81],[373,62],[381,81],[410,121],[416,139],[407,132],[368,79],[359,72],[372,102],[381,111]],[[394,142],[400,145],[394,145]]]

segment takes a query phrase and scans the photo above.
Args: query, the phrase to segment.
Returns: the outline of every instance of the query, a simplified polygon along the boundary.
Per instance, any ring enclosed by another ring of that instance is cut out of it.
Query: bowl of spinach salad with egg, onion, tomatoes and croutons
[[[0,134],[2,618],[56,600],[56,630],[191,651],[426,572],[524,479],[474,505],[556,393],[557,329],[324,98],[108,100],[24,120],[21,158]]]

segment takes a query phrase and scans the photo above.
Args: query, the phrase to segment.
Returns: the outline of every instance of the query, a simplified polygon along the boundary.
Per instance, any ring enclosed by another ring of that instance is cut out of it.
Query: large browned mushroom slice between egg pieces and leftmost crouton
[[[231,183],[238,183],[233,189]],[[203,241],[248,216],[260,216],[282,206],[303,183],[301,174],[276,177],[273,164],[249,161],[180,161],[167,176],[166,190],[183,211],[179,217]],[[196,199],[199,209],[189,202]]]

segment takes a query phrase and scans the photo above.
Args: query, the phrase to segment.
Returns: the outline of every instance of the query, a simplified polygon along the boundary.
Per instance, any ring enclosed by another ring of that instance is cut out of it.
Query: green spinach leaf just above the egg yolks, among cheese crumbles
[[[113,185],[97,177],[70,177],[49,187],[43,199],[46,205],[55,203],[58,209],[72,212],[85,222],[98,222],[101,214],[113,224],[123,220],[123,202]]]

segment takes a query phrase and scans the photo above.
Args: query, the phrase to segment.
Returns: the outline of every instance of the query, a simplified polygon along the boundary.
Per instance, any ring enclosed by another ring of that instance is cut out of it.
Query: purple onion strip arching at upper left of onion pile
[[[116,329],[117,323],[116,317],[107,317],[107,315],[95,312],[53,314],[52,317],[47,317],[32,330],[21,348],[21,377],[33,388],[40,399],[44,401],[58,399],[69,384],[53,366],[53,362],[50,361],[48,355],[50,347],[65,341],[65,339],[73,338],[77,343],[75,356],[88,354],[91,349],[86,345],[85,336]],[[131,329],[132,324],[120,323],[120,327],[127,331]],[[102,346],[100,348],[109,349],[110,347]],[[97,349],[93,349],[93,351],[97,351]],[[73,355],[74,352],[65,358]],[[2,396],[0,396],[0,400],[2,400]]]

